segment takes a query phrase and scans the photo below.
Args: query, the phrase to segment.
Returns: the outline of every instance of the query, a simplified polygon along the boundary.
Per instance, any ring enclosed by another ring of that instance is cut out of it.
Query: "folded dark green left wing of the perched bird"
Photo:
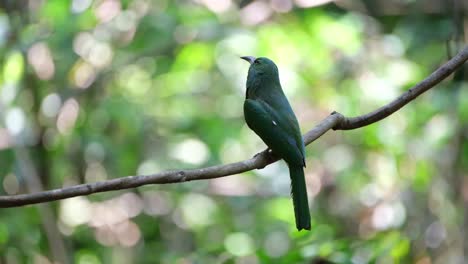
[[[282,117],[266,102],[253,99],[245,100],[244,116],[247,125],[273,152],[288,163],[305,165],[303,149],[298,147],[301,145],[298,144],[295,133],[288,129],[290,124],[287,117]]]

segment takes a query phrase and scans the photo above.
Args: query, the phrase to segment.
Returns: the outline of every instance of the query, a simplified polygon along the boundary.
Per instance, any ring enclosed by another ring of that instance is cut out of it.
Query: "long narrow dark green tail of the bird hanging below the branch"
[[[304,168],[301,165],[289,165],[291,177],[291,196],[296,216],[296,227],[310,230],[310,212],[307,198],[307,187],[304,177]]]

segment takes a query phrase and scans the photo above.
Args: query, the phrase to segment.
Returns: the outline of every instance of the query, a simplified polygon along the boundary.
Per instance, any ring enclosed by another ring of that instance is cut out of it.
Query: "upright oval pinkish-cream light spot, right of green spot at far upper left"
[[[29,48],[28,62],[39,79],[50,80],[54,77],[55,64],[49,47],[45,43],[35,43]]]

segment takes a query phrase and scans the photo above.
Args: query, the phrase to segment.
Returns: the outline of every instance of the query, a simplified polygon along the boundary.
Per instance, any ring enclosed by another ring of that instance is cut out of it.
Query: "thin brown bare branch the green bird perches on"
[[[337,112],[333,112],[316,127],[304,135],[305,144],[309,145],[330,129],[355,129],[384,119],[385,117],[398,111],[404,105],[411,102],[425,91],[440,83],[443,79],[447,78],[447,76],[453,73],[458,67],[463,65],[463,63],[465,63],[467,60],[468,47],[465,47],[460,53],[438,68],[422,82],[418,83],[416,86],[412,87],[389,104],[384,105],[368,114],[357,117],[344,117]],[[166,171],[151,175],[127,176],[118,179],[80,184],[32,194],[0,196],[0,208],[44,203],[75,196],[89,195],[98,192],[130,189],[147,184],[179,183],[194,180],[220,178],[254,169],[261,169],[268,164],[276,162],[277,160],[278,159],[275,158],[271,153],[263,151],[251,159],[226,165],[217,165],[193,170]]]

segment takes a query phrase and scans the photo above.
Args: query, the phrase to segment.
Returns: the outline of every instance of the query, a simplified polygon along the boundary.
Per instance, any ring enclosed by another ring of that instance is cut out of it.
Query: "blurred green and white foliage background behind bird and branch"
[[[0,193],[252,157],[248,64],[279,66],[303,132],[367,113],[467,41],[463,0],[3,0]],[[464,263],[468,83],[307,147],[287,167],[1,209],[0,263]]]

